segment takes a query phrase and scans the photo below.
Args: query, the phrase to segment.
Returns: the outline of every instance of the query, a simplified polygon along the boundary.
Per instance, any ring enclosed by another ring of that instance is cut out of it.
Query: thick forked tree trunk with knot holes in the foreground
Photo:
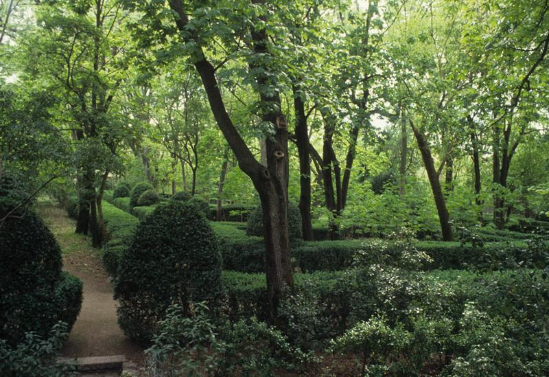
[[[183,1],[170,0],[170,7],[176,14],[174,21],[185,42],[196,43],[199,38],[196,32],[187,29],[189,18]],[[266,20],[265,20],[266,21]],[[253,49],[257,56],[268,56],[267,34],[265,29],[253,30]],[[200,44],[198,44],[200,46]],[[259,60],[263,65],[265,59]],[[261,102],[269,104],[269,110],[262,115],[262,119],[274,125],[275,134],[267,140],[267,162],[265,167],[257,162],[248,146],[235,128],[226,111],[220,86],[215,78],[215,68],[207,60],[202,49],[197,47],[194,56],[194,66],[204,85],[209,104],[215,121],[218,123],[226,141],[235,154],[242,171],[250,176],[261,200],[263,210],[264,239],[266,246],[266,280],[267,299],[270,321],[278,323],[279,301],[285,295],[287,288],[294,288],[292,264],[290,262],[290,238],[288,233],[288,129],[285,118],[281,113],[279,96],[266,95],[261,91]],[[269,73],[268,67],[261,71]],[[260,70],[256,80],[259,87],[268,82]],[[267,107],[267,106],[265,106]]]

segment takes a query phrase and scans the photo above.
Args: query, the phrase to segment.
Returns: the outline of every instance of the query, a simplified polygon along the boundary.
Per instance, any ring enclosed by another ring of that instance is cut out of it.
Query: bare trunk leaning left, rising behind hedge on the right
[[[431,184],[436,211],[439,213],[443,240],[453,241],[454,235],[452,234],[452,226],[449,222],[450,218],[446,207],[446,200],[442,192],[441,181],[439,181],[439,174],[437,174],[436,169],[434,168],[434,161],[431,151],[425,141],[425,137],[423,137],[423,134],[415,128],[412,119],[410,119],[410,126],[412,127],[412,131],[414,132],[414,136],[417,140],[417,146],[421,152],[423,165],[425,165],[425,170],[427,170],[427,176],[429,177],[429,183]]]

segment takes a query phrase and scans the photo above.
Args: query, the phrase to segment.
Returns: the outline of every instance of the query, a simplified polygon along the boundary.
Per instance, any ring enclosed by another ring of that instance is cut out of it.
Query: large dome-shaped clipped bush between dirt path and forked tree
[[[221,255],[209,222],[188,203],[156,207],[120,256],[115,298],[121,329],[148,341],[170,304],[188,309],[206,301],[215,310],[222,296]]]

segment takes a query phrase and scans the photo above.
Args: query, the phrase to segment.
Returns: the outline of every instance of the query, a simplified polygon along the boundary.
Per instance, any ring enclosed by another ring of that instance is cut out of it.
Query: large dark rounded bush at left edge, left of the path
[[[0,198],[0,217],[9,210]],[[61,249],[34,212],[4,222],[0,260],[0,339],[15,344],[25,332],[46,336],[58,321],[70,331],[82,305],[82,282],[61,272]]]

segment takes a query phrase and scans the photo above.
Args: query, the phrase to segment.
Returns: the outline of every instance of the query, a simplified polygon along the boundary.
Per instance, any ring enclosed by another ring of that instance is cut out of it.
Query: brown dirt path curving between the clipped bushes
[[[60,244],[63,270],[84,282],[82,310],[61,356],[124,355],[142,365],[143,348],[132,343],[118,326],[113,288],[103,269],[100,251],[91,247],[89,238],[74,233],[75,221],[63,209],[41,204],[38,212]]]

